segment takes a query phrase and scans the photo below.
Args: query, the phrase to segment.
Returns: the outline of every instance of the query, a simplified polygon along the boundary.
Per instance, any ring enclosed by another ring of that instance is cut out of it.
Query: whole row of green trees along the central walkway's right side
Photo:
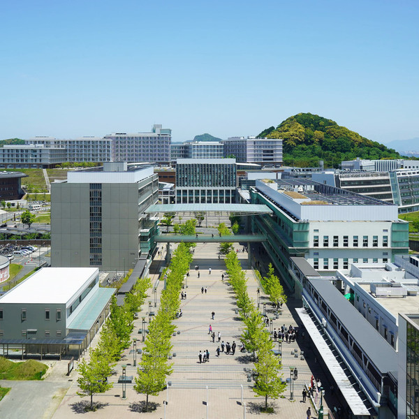
[[[247,293],[247,278],[242,270],[237,253],[230,251],[225,259],[228,279],[236,296],[237,307],[245,328],[242,332],[242,342],[248,351],[253,352],[253,360],[256,360],[253,373],[255,385],[253,392],[257,396],[265,397],[265,411],[268,397],[277,399],[286,389],[286,383],[281,380],[281,359],[274,355],[273,341],[265,328],[265,323],[254,301]]]

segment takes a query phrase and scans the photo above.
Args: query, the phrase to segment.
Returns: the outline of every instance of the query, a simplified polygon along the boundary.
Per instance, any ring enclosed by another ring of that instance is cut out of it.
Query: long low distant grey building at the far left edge
[[[66,150],[41,145],[0,147],[0,168],[54,168],[66,161]]]

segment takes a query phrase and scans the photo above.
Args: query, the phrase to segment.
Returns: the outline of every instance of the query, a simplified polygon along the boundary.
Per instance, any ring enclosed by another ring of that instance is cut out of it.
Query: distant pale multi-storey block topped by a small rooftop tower
[[[149,133],[112,133],[104,138],[112,140],[112,161],[170,163],[172,130],[160,124]]]

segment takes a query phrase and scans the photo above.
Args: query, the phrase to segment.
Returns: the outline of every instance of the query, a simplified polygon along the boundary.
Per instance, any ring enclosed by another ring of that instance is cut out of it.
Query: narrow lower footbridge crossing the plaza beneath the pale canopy
[[[218,233],[198,234],[198,235],[182,235],[173,233],[161,233],[153,237],[157,243],[237,243],[237,242],[266,242],[267,237],[262,234],[235,234],[235,235],[219,235]]]

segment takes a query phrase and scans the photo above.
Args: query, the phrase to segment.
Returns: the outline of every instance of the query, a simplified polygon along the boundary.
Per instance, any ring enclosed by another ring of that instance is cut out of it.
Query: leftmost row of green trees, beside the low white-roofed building
[[[131,343],[131,332],[135,314],[140,311],[151,286],[149,278],[140,278],[130,293],[125,297],[124,304],[119,306],[115,295],[110,304],[110,316],[103,323],[100,339],[96,348],[89,351],[89,361],[83,359],[78,367],[78,385],[81,397],[90,397],[89,409],[93,410],[93,396],[112,388],[108,377],[112,368],[121,358],[124,349]]]

